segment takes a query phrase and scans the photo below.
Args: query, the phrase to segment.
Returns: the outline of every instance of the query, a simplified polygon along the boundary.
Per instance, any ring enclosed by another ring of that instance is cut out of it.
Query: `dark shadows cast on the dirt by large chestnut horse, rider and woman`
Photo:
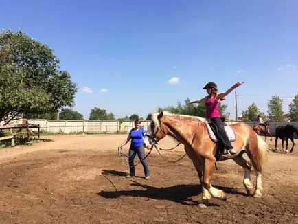
[[[125,172],[119,172],[116,170],[104,170],[103,173],[107,175],[124,176]],[[149,184],[139,183],[135,180],[131,180],[131,186],[136,186],[142,189],[139,190],[113,190],[113,191],[100,191],[96,193],[98,196],[104,197],[106,199],[115,199],[118,197],[144,197],[147,199],[156,200],[168,200],[175,203],[181,203],[182,205],[198,205],[198,201],[194,200],[192,197],[197,197],[202,193],[200,184],[179,184],[169,187],[155,187]],[[229,187],[214,186],[220,190],[224,190],[229,194],[239,194],[247,195],[243,192],[238,192],[237,190]],[[219,206],[216,203],[209,203],[209,206]]]

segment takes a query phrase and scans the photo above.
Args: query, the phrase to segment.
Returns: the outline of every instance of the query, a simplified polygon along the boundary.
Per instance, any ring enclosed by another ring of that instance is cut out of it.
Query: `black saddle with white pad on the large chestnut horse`
[[[233,129],[231,128],[231,126],[229,126],[225,123],[225,120],[223,120],[223,118],[222,118],[222,122],[224,122],[224,128],[227,133],[227,137],[229,138],[229,141],[235,142],[236,135],[235,135]],[[216,144],[218,145],[218,147],[216,149],[216,154],[215,154],[216,161],[218,161],[218,159],[220,158],[220,155],[222,155],[225,151],[225,148],[224,148],[222,142],[218,139],[218,136],[220,135],[220,133],[218,132],[218,128],[217,128],[216,124],[214,124],[214,122],[209,122],[206,120],[205,125],[206,125],[210,139],[213,142],[216,142]]]

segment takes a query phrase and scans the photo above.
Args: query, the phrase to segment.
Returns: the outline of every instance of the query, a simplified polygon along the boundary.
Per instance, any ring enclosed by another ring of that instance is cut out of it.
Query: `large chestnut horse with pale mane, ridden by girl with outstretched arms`
[[[211,177],[214,170],[217,144],[214,143],[208,134],[205,119],[187,115],[175,115],[168,112],[153,113],[152,122],[144,137],[146,148],[152,147],[166,135],[173,137],[185,146],[185,152],[198,172],[202,186],[202,199],[200,207],[206,207],[211,197],[226,200],[225,193],[211,186]],[[261,171],[266,158],[268,146],[264,140],[257,135],[251,126],[242,122],[232,124],[231,128],[236,134],[236,141],[232,146],[236,149],[236,155],[221,155],[219,160],[233,159],[239,166],[244,168],[243,184],[247,194],[253,197],[262,197]],[[250,161],[242,157],[247,153]],[[255,190],[250,180],[251,164],[255,168],[256,184]]]

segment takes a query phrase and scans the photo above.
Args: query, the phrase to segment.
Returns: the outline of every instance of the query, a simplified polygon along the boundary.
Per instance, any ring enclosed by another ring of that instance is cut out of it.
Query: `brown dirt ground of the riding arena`
[[[173,164],[153,151],[152,178],[144,179],[139,164],[137,176],[126,179],[128,165],[117,157],[126,136],[47,136],[1,149],[0,223],[298,223],[298,139],[293,153],[269,153],[262,199],[246,195],[243,170],[229,160],[217,163],[212,179],[227,201],[199,208],[200,185],[187,157]],[[184,154],[181,146],[161,153],[172,161]]]

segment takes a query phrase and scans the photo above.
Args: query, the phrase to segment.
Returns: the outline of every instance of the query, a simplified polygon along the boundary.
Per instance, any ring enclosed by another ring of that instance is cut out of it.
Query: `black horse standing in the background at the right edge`
[[[295,146],[295,142],[294,142],[294,133],[296,133],[297,137],[298,137],[298,128],[287,124],[286,126],[278,126],[275,129],[275,149],[278,150],[277,148],[277,139],[280,138],[282,139],[282,149],[288,153],[288,139],[290,139],[290,141],[292,142],[293,146],[290,150],[290,153],[293,152],[293,148]],[[286,140],[286,150],[284,149],[284,140]]]

